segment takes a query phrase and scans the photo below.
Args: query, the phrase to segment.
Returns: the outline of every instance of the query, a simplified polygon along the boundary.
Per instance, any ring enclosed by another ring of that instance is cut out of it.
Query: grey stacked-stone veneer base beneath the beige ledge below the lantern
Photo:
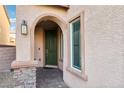
[[[16,88],[36,88],[36,68],[26,67],[14,69]]]

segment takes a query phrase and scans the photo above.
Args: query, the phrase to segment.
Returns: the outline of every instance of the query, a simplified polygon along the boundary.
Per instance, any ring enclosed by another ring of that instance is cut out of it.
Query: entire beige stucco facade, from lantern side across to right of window
[[[70,33],[69,28],[65,26],[66,24],[58,22],[64,32],[63,74],[65,83],[70,87],[124,87],[123,6],[70,6],[68,12],[63,8],[52,6],[17,6],[16,10],[16,61],[24,63],[32,61],[33,27],[40,20],[40,16],[55,14],[58,18],[63,19],[65,23],[68,23],[69,19],[84,11],[84,24],[82,24],[84,30],[82,31],[84,31],[85,38],[84,59],[88,81],[84,81],[67,70],[70,62]],[[27,36],[21,35],[22,20],[26,20],[28,23]],[[56,18],[52,18],[52,20],[56,20]],[[81,37],[83,37],[83,34]],[[43,45],[38,46],[43,47]]]

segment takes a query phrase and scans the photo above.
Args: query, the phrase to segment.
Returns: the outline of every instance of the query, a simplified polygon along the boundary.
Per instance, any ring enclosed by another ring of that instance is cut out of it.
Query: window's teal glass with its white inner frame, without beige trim
[[[81,70],[80,61],[80,18],[70,23],[71,30],[71,66]]]

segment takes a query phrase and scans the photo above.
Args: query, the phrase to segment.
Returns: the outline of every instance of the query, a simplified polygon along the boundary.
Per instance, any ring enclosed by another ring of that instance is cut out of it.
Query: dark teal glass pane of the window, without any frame
[[[73,49],[73,67],[77,69],[81,69],[81,63],[80,63],[80,20],[72,23],[72,49]]]

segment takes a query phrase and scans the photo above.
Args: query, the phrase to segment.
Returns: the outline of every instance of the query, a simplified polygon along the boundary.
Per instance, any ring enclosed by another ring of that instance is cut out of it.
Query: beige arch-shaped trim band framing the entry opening
[[[60,29],[60,31],[58,31],[58,32],[62,33],[63,59],[60,59],[60,61],[63,61],[63,63],[64,63],[66,61],[66,57],[67,57],[65,55],[67,55],[67,53],[68,53],[67,50],[66,50],[66,48],[67,48],[67,44],[66,44],[67,23],[63,18],[61,18],[60,16],[58,16],[56,14],[53,14],[53,13],[42,14],[42,15],[38,16],[36,18],[36,20],[33,22],[32,26],[31,26],[31,38],[30,38],[30,41],[31,41],[31,55],[30,55],[30,58],[31,58],[33,63],[37,64],[38,61],[35,58],[35,56],[36,56],[35,55],[35,30],[36,30],[36,27],[38,26],[38,24],[40,24],[44,21],[48,21],[48,20],[53,22],[54,24],[56,24],[57,27],[58,27],[58,30]],[[45,31],[43,31],[43,32],[45,32]],[[43,60],[43,59],[39,59],[39,60]]]

